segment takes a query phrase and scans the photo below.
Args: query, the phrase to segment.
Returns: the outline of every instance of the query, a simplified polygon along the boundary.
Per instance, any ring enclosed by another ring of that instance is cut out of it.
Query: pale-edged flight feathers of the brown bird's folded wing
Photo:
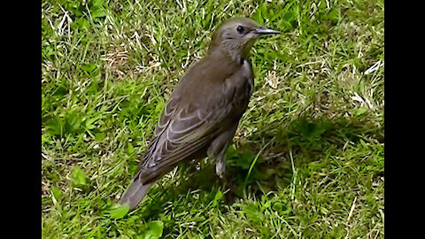
[[[229,110],[219,107],[220,104],[210,108],[179,103],[172,98],[166,104],[149,150],[135,174],[143,183],[155,180],[170,167],[207,147]]]

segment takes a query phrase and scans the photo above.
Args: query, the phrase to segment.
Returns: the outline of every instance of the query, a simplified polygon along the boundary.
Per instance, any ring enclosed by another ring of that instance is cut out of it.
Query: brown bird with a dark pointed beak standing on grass
[[[251,47],[260,36],[277,34],[243,17],[217,27],[205,57],[174,88],[120,204],[135,209],[152,183],[183,161],[208,157],[225,177],[226,151],[254,89]]]

